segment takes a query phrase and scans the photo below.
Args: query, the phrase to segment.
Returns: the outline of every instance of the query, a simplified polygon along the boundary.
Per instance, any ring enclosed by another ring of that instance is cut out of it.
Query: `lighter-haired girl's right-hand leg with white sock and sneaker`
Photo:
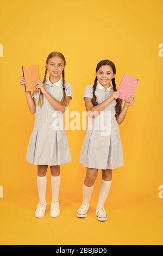
[[[60,215],[59,209],[59,190],[60,190],[60,166],[51,167],[51,185],[52,185],[52,203],[51,203],[51,217],[58,217]]]

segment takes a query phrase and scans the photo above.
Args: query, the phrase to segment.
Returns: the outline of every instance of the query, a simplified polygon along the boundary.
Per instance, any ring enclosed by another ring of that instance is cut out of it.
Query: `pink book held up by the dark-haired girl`
[[[119,99],[126,100],[129,96],[134,95],[137,85],[139,84],[139,79],[131,77],[124,74],[117,89],[120,93]]]

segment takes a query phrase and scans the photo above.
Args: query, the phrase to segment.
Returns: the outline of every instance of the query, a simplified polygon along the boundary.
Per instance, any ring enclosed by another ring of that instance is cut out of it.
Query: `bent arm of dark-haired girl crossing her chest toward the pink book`
[[[85,101],[85,108],[87,111],[87,114],[89,115],[89,117],[91,118],[95,118],[97,117],[98,114],[100,114],[101,111],[103,111],[103,109],[113,100],[117,99],[117,97],[120,95],[120,93],[118,92],[113,92],[111,94],[111,96],[104,100],[102,103],[99,103],[96,106],[93,106],[91,98],[90,97],[84,97],[84,101]]]

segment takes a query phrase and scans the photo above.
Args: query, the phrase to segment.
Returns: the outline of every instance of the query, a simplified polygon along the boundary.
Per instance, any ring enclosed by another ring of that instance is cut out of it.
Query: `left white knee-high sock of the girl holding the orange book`
[[[46,203],[46,181],[46,175],[43,177],[37,175],[37,189],[39,192],[40,202],[42,203]]]

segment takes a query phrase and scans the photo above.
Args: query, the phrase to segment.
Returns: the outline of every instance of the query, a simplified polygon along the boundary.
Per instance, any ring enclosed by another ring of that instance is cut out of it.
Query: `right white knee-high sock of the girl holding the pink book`
[[[101,180],[97,207],[98,206],[104,207],[105,200],[108,197],[109,190],[111,187],[111,182],[112,180],[103,180],[103,179]]]

